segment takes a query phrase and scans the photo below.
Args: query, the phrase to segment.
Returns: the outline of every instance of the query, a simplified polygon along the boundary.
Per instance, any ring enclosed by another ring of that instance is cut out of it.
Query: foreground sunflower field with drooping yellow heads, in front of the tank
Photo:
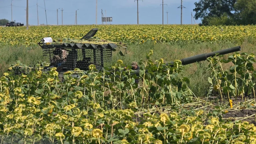
[[[200,99],[189,88],[176,60],[140,61],[139,76],[118,60],[111,69],[67,71],[56,68],[0,78],[1,144],[245,144],[256,143],[254,55],[208,58],[212,90],[220,104]],[[222,69],[225,63],[230,69]],[[17,63],[13,66],[25,67]],[[9,70],[13,69],[13,66]],[[39,65],[40,66],[40,65]],[[145,70],[148,73],[145,73]],[[72,77],[78,74],[80,77]],[[141,78],[139,83],[135,79]],[[239,79],[239,80],[237,80]],[[245,96],[246,93],[246,96]],[[236,101],[242,98],[244,101]],[[235,117],[234,112],[247,111]]]

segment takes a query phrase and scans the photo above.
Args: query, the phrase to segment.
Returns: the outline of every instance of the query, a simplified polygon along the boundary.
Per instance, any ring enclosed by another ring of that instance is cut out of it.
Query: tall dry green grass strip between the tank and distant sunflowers
[[[123,60],[124,64],[131,65],[133,61],[144,60],[146,53],[150,49],[154,51],[153,60],[160,58],[164,59],[164,62],[171,62],[177,59],[182,59],[190,56],[194,56],[202,53],[209,53],[221,49],[227,49],[240,45],[242,47],[241,52],[255,53],[256,54],[256,40],[246,39],[243,43],[235,42],[218,42],[218,43],[157,43],[147,42],[142,45],[133,44],[127,47],[127,54],[124,49],[120,49],[125,56],[119,54],[119,49],[113,53],[113,58],[110,64],[105,66],[111,66],[117,60]],[[229,54],[232,55],[232,54]],[[227,58],[229,55],[226,55]],[[10,64],[14,64],[17,60],[26,65],[34,65],[38,61],[49,62],[48,57],[43,57],[42,49],[40,47],[35,49],[28,49],[25,47],[11,47],[0,46],[0,76],[7,70]],[[224,68],[229,68],[229,64],[224,65]],[[207,71],[208,63],[206,61],[186,65],[185,73],[183,76],[190,79],[190,88],[197,96],[204,96],[207,94],[209,84],[207,78],[210,73]]]

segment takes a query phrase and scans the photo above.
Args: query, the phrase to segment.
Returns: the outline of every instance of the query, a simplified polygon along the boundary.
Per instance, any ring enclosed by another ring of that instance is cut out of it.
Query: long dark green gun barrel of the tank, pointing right
[[[211,52],[211,53],[205,53],[205,54],[199,54],[199,55],[191,56],[191,57],[188,57],[188,58],[184,58],[180,61],[182,62],[182,65],[188,65],[188,64],[195,63],[195,62],[205,61],[207,58],[213,57],[217,54],[218,55],[225,55],[225,54],[237,52],[237,51],[240,51],[240,50],[241,50],[241,47],[236,46],[236,47],[233,47],[233,48],[219,50],[219,51],[215,51],[215,52]],[[173,65],[174,65],[174,62],[166,63],[166,66],[173,66]],[[147,70],[146,70],[146,72],[147,72]],[[133,74],[139,75],[139,70],[136,70],[131,75],[133,75]]]

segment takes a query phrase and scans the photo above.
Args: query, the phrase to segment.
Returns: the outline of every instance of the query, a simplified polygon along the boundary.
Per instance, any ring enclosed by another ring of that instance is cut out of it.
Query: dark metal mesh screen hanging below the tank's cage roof
[[[51,65],[62,70],[88,70],[91,64],[101,69],[112,57],[112,50],[108,48],[45,48],[43,53],[50,58]]]

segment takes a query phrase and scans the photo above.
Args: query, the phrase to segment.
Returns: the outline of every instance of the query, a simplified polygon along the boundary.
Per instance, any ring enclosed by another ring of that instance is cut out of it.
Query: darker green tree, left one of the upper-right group
[[[199,0],[195,2],[195,19],[202,19],[203,24],[208,24],[208,18],[221,17],[224,13],[233,16],[234,4],[237,0]]]

